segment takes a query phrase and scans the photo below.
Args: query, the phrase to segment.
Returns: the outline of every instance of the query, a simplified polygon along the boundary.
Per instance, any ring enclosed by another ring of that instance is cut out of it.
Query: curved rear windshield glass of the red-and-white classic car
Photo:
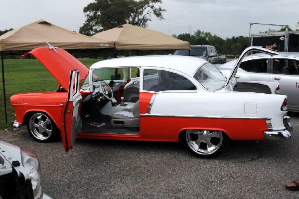
[[[207,90],[218,90],[226,82],[226,77],[211,63],[201,66],[196,71],[194,78]]]

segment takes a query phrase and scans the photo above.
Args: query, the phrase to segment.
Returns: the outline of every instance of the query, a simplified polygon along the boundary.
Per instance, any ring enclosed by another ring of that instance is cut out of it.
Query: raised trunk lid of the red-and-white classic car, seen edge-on
[[[267,48],[262,48],[262,47],[257,47],[257,46],[251,46],[246,48],[240,55],[240,57],[238,58],[237,62],[235,63],[235,65],[232,67],[231,73],[229,75],[229,77],[226,80],[226,83],[224,84],[225,86],[228,86],[229,83],[231,82],[232,78],[235,77],[238,68],[240,67],[240,64],[243,60],[243,58],[251,51],[258,51],[258,52],[264,52],[266,54],[269,55],[278,55],[279,53],[273,50],[268,50]]]

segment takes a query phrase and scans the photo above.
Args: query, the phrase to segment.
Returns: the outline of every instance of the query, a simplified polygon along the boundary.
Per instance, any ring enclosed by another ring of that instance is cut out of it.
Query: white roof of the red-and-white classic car
[[[208,61],[182,55],[150,55],[113,58],[94,63],[90,69],[113,68],[113,67],[160,67],[181,71],[192,76],[199,66]]]

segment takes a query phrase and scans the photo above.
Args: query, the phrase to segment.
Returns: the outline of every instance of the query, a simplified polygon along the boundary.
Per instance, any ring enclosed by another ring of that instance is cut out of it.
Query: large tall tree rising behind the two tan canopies
[[[125,23],[147,27],[152,14],[163,19],[166,10],[157,3],[162,0],[95,0],[83,8],[86,20],[79,32],[90,36]]]

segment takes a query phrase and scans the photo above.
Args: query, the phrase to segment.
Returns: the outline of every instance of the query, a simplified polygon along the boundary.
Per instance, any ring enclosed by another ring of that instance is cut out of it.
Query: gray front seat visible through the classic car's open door
[[[118,111],[111,116],[113,127],[139,127],[139,100],[132,109]]]

